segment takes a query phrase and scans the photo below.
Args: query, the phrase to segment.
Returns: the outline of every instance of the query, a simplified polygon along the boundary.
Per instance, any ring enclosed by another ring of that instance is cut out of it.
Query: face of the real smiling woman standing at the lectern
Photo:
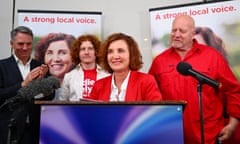
[[[124,40],[113,41],[107,52],[109,66],[114,72],[129,71],[130,53]]]

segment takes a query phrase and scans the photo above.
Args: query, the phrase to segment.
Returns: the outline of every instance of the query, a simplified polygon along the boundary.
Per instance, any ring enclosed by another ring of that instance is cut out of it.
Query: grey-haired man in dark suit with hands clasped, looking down
[[[31,58],[33,43],[32,30],[19,26],[11,31],[13,54],[0,60],[0,105],[17,95],[20,88],[33,80],[42,78],[48,67]],[[12,110],[11,110],[12,109]],[[39,118],[33,103],[19,103],[17,107],[4,106],[0,109],[0,143],[9,143],[8,136],[16,138],[18,144],[37,143]],[[16,115],[17,114],[17,115]],[[16,123],[10,123],[16,118]],[[8,125],[13,128],[9,129]],[[8,132],[12,132],[8,134]]]

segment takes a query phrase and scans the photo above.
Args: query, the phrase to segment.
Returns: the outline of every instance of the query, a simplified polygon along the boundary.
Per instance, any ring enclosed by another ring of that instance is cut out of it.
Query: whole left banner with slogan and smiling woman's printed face
[[[18,10],[18,25],[34,33],[32,56],[49,67],[50,75],[63,80],[76,64],[71,44],[82,34],[102,36],[101,12]]]

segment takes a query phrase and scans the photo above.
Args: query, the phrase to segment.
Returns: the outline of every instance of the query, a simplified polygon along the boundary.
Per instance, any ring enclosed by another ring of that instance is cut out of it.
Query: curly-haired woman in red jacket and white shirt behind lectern
[[[101,101],[160,101],[153,76],[138,72],[142,58],[136,41],[123,33],[110,35],[99,52],[100,65],[112,73],[95,82],[91,99]]]

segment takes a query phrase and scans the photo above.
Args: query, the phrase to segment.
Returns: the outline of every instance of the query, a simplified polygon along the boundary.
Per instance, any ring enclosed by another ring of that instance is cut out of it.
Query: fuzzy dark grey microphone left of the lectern
[[[48,78],[40,78],[33,80],[27,86],[18,90],[15,97],[9,98],[5,101],[4,105],[8,103],[28,102],[34,99],[35,96],[43,94],[48,96],[52,94],[55,89],[60,87],[60,82],[57,78],[50,76]]]

